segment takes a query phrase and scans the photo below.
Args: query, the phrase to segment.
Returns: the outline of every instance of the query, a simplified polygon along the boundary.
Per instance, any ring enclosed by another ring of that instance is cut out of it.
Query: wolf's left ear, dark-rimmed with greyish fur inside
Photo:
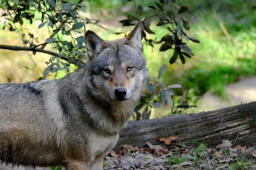
[[[90,30],[85,33],[85,44],[89,59],[107,47],[107,44],[95,32]]]

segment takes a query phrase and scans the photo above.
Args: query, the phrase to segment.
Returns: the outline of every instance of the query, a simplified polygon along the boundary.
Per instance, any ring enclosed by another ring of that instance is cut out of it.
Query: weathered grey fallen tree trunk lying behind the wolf
[[[114,149],[121,149],[124,144],[159,144],[160,137],[169,136],[178,137],[175,143],[192,147],[200,142],[213,147],[224,139],[235,145],[255,145],[256,102],[194,115],[131,121],[121,131]]]

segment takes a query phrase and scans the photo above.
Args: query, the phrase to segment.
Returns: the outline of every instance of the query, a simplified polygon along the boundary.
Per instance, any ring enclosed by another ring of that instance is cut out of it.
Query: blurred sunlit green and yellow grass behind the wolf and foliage
[[[103,39],[123,37],[114,32],[130,31],[132,27],[122,28],[119,20],[126,14],[135,14],[134,2],[126,1],[84,1],[86,16],[99,18],[99,24],[108,30],[94,25],[87,25],[87,29],[94,30]],[[148,13],[147,5],[154,1],[136,1],[144,6],[144,12]],[[189,42],[192,59],[187,59],[182,65],[180,60],[169,65],[172,51],[159,52],[159,46],[154,48],[144,46],[147,57],[147,67],[150,76],[157,76],[162,64],[166,64],[166,70],[162,80],[166,84],[180,83],[184,89],[193,88],[196,94],[202,95],[206,91],[223,96],[223,87],[230,82],[238,81],[242,76],[256,75],[256,2],[255,1],[189,1],[181,0],[178,3],[189,7],[187,18],[193,37],[201,41],[200,44]],[[129,10],[127,10],[129,9]],[[26,26],[40,39],[47,37],[47,30],[37,29],[40,22],[34,22],[32,26]],[[152,30],[157,35],[148,37],[160,39],[166,34],[152,23]],[[222,28],[220,25],[223,25]],[[225,33],[226,30],[226,33]],[[1,30],[0,44],[21,45],[21,41],[14,32]],[[37,53],[32,59],[26,52],[10,52],[0,50],[0,83],[28,82],[42,77],[42,70],[46,67],[45,61],[50,56]],[[28,69],[29,68],[29,69]],[[60,77],[64,76],[62,74]]]

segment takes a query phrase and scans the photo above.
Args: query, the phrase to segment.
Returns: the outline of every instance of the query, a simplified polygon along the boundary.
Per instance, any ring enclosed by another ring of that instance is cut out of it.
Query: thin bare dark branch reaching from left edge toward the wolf
[[[0,45],[0,49],[14,50],[14,51],[32,51],[32,52],[40,52],[40,53],[50,54],[50,55],[54,55],[56,57],[59,57],[61,59],[64,59],[69,63],[77,65],[77,63],[74,60],[72,60],[71,58],[68,58],[65,55],[57,54],[57,53],[54,53],[52,51],[43,50],[42,48],[34,48],[34,47],[26,47],[26,46]]]

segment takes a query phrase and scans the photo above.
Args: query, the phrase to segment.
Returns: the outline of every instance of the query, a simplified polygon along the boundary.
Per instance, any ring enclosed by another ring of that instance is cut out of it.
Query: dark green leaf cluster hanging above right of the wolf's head
[[[135,1],[134,1],[135,2]],[[200,41],[190,36],[190,26],[188,21],[181,17],[189,8],[187,6],[179,6],[176,1],[162,0],[148,6],[152,9],[152,13],[144,14],[143,7],[136,5],[137,16],[127,15],[127,19],[121,20],[123,26],[135,25],[136,20],[142,20],[143,38],[150,46],[161,44],[159,51],[174,50],[170,58],[170,64],[176,62],[179,57],[181,62],[185,64],[185,57],[191,58],[193,55],[188,47],[188,41],[199,43]],[[156,34],[150,29],[152,21],[157,21],[157,26],[167,29],[169,34],[164,35],[160,41],[148,39],[146,33]]]

